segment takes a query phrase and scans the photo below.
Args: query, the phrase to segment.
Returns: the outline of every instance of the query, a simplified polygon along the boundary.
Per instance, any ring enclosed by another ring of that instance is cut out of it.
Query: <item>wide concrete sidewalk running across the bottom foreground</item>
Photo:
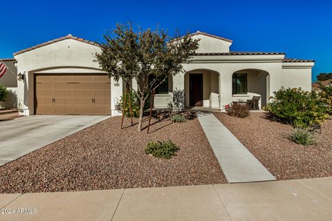
[[[0,220],[331,220],[332,177],[104,191],[0,194]],[[32,214],[19,211],[32,211]],[[22,210],[23,209],[23,210]],[[30,209],[30,210],[28,210]]]

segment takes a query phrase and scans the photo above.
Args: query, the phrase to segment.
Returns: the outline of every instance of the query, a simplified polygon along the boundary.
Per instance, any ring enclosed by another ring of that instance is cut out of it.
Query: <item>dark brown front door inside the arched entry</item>
[[[203,106],[203,74],[189,75],[190,106]]]

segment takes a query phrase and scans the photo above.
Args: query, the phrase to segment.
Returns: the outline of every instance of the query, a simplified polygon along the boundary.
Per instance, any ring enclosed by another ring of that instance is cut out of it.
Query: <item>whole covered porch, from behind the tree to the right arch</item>
[[[219,70],[219,71],[216,71]],[[259,68],[240,70],[196,68],[176,76],[170,75],[156,90],[155,108],[224,110],[231,102],[246,102],[260,97],[259,109],[270,97],[270,73]]]

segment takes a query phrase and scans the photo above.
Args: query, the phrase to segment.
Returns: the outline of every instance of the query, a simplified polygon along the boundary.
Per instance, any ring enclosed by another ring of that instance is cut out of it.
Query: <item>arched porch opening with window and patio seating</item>
[[[232,102],[242,102],[260,96],[259,108],[266,106],[270,97],[270,74],[265,70],[243,69],[232,75]]]

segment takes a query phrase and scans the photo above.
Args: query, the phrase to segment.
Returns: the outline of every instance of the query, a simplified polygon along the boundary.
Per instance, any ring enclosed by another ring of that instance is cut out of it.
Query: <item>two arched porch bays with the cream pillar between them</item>
[[[230,79],[227,79],[231,77]],[[229,82],[227,87],[224,81]],[[224,109],[230,102],[246,102],[260,97],[259,108],[266,106],[270,97],[270,75],[265,70],[248,68],[220,75],[216,70],[196,69],[184,75],[185,108]],[[232,90],[232,91],[229,91]],[[230,95],[222,99],[220,95]]]

